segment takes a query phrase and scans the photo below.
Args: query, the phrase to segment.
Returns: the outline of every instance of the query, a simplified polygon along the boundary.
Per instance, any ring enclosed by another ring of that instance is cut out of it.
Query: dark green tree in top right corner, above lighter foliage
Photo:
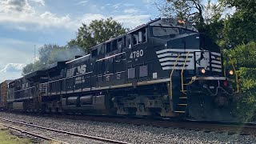
[[[242,43],[256,41],[256,2],[253,0],[220,0],[235,12],[224,22],[221,46],[234,48]]]

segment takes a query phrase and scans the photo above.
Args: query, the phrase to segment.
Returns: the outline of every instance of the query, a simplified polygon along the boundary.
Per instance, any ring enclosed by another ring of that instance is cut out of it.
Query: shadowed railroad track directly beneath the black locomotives
[[[30,115],[30,114],[29,114]],[[256,135],[255,123],[238,122],[202,122],[202,121],[180,121],[178,119],[153,119],[153,118],[122,118],[106,116],[90,116],[76,114],[44,114],[43,117],[69,118],[75,120],[86,120],[95,122],[114,122],[145,126],[161,126],[170,128],[182,128],[189,130],[203,130],[206,132],[228,132],[229,134],[254,134]],[[2,118],[0,118],[2,119]]]

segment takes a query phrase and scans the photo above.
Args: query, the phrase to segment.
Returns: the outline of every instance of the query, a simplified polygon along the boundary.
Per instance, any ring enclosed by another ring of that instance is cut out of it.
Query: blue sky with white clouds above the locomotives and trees
[[[0,82],[21,77],[34,47],[64,46],[82,23],[110,17],[134,28],[159,12],[154,0],[0,0]]]

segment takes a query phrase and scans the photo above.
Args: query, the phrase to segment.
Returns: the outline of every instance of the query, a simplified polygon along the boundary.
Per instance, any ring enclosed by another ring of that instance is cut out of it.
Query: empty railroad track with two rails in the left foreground
[[[47,127],[44,127],[44,126],[33,125],[33,124],[30,124],[30,123],[26,123],[26,122],[13,121],[13,120],[6,119],[6,118],[0,118],[0,120],[5,121],[5,122],[12,122],[12,123],[15,123],[15,124],[18,124],[18,125],[22,125],[22,126],[31,126],[31,127],[38,128],[38,129],[41,129],[41,130],[50,130],[50,131],[61,133],[61,134],[68,134],[68,135],[72,135],[72,136],[75,136],[75,137],[86,138],[86,139],[90,139],[90,140],[94,140],[94,141],[98,141],[98,142],[129,144],[129,142],[121,142],[121,141],[111,140],[111,139],[107,139],[107,138],[94,137],[94,136],[90,136],[90,135],[86,135],[86,134],[77,134],[77,133],[73,133],[73,132],[69,132],[69,131],[64,131],[64,130],[56,130],[56,129],[47,128]],[[6,124],[2,124],[2,125],[6,126],[6,127],[9,127],[10,129],[18,130],[18,131],[21,131],[22,133],[32,135],[32,136],[34,136],[36,138],[41,138],[41,139],[44,139],[44,140],[47,140],[47,141],[55,141],[55,142],[60,142],[60,143],[67,143],[67,142],[62,142],[62,141],[55,140],[53,138],[44,137],[44,136],[39,135],[39,134],[34,134],[34,133],[28,132],[26,130],[21,130],[21,129],[17,128],[17,127],[14,127],[14,126],[6,125]]]

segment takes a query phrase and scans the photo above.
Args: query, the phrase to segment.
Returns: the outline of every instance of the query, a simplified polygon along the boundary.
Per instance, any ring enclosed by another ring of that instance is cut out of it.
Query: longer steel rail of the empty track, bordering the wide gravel
[[[6,118],[0,118],[0,119],[3,120],[3,121],[7,121],[7,122],[14,122],[14,123],[18,123],[18,124],[21,124],[21,125],[36,127],[36,128],[42,129],[42,130],[50,130],[50,131],[54,131],[54,132],[58,132],[58,133],[62,133],[62,134],[69,134],[69,135],[73,135],[73,136],[77,136],[77,137],[81,137],[81,138],[93,139],[93,140],[101,141],[101,142],[110,142],[110,143],[118,143],[118,144],[130,144],[129,142],[121,142],[121,141],[111,140],[111,139],[108,139],[108,138],[99,138],[99,137],[94,137],[94,136],[90,136],[90,135],[86,135],[86,134],[78,134],[78,133],[73,133],[73,132],[64,131],[64,130],[56,130],[56,129],[52,129],[52,128],[48,128],[48,127],[44,127],[44,126],[33,125],[33,124],[30,124],[30,123],[26,123],[26,122],[13,121],[13,120],[6,119]]]

